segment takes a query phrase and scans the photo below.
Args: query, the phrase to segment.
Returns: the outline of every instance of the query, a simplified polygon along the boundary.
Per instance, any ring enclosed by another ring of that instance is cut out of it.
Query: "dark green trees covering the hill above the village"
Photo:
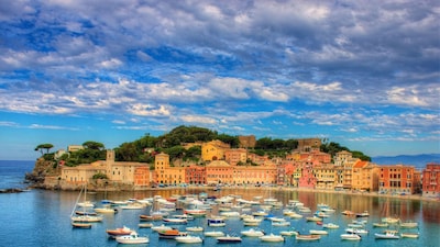
[[[213,139],[219,139],[223,143],[228,143],[232,148],[240,146],[239,137],[227,134],[218,134],[216,131],[197,126],[184,126],[180,125],[169,133],[158,137],[151,136],[148,133],[141,138],[123,143],[114,149],[117,161],[139,161],[146,164],[154,164],[154,156],[161,151],[168,154],[172,161],[194,161],[199,162],[201,157],[201,147],[195,145],[186,149],[183,144],[186,143],[205,143]],[[101,143],[88,141],[82,144],[84,149],[74,151],[72,154],[65,154],[59,157],[61,160],[65,160],[66,166],[77,166],[79,164],[90,164],[96,160],[106,159],[106,147]],[[40,144],[35,150],[40,150],[42,156],[46,160],[54,158],[54,154],[50,154],[50,149],[54,146],[52,144]],[[272,157],[286,157],[292,150],[298,147],[298,141],[296,139],[272,139],[271,137],[263,137],[256,141],[255,148],[250,149],[250,153],[254,153],[260,156],[267,155]],[[321,151],[330,154],[332,157],[341,150],[351,151],[349,148],[341,146],[338,143],[327,142],[323,139],[323,144],[320,147]],[[46,150],[44,154],[43,150]],[[362,151],[351,151],[353,157],[362,160],[371,161],[369,156],[365,156]],[[239,164],[240,166],[254,166],[248,161],[246,164]]]

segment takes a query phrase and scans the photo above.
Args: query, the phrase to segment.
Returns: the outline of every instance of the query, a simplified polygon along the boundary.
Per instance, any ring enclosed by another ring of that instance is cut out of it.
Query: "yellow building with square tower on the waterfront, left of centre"
[[[161,153],[155,156],[154,170],[156,183],[180,184],[185,182],[185,167],[170,167],[167,154]]]

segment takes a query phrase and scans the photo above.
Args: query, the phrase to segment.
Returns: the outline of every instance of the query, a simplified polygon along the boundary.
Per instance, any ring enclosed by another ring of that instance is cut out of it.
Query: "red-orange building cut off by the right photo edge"
[[[440,164],[428,164],[422,171],[422,197],[440,198]]]

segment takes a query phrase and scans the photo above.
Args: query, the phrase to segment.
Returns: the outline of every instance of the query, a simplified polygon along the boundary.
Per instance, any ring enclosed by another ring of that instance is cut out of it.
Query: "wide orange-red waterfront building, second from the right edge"
[[[415,182],[417,181],[415,181],[415,168],[413,166],[380,166],[380,193],[413,194]]]

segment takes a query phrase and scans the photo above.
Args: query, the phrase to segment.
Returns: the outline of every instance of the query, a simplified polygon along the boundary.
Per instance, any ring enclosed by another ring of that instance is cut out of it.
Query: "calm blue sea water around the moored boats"
[[[24,176],[31,172],[34,161],[0,161],[0,189],[20,188],[25,189],[29,184],[24,183]],[[283,203],[289,200],[302,202],[305,206],[317,210],[319,203],[328,204],[336,209],[336,213],[323,220],[323,223],[334,223],[340,225],[338,229],[329,229],[328,235],[322,235],[316,242],[300,242],[292,237],[285,237],[282,243],[264,243],[255,237],[242,237],[239,244],[218,244],[212,237],[205,237],[202,233],[194,233],[204,238],[202,244],[178,244],[173,239],[160,239],[157,233],[151,228],[139,228],[140,215],[148,214],[150,207],[143,210],[118,210],[119,213],[105,215],[100,223],[92,223],[89,229],[73,228],[70,224],[70,214],[74,211],[78,199],[78,191],[56,191],[32,189],[20,193],[0,193],[0,246],[18,246],[18,247],[54,247],[54,246],[78,246],[78,247],[99,247],[99,246],[123,246],[114,239],[109,238],[106,229],[127,226],[138,231],[140,235],[150,238],[148,244],[136,246],[220,246],[220,247],[260,247],[260,246],[326,246],[326,247],[361,247],[361,246],[440,246],[440,202],[426,200],[409,200],[406,198],[384,198],[384,197],[366,197],[362,194],[344,194],[344,193],[317,193],[311,191],[288,191],[279,188],[222,188],[213,191],[206,187],[188,189],[157,189],[152,191],[125,191],[125,192],[89,192],[86,194],[87,200],[95,201],[98,204],[107,200],[128,200],[144,199],[154,195],[169,198],[176,194],[200,194],[207,193],[209,197],[221,198],[224,195],[233,195],[245,200],[253,200],[255,197],[275,198]],[[217,209],[218,210],[218,209]],[[252,210],[258,210],[254,206]],[[350,210],[353,212],[367,211],[370,216],[363,218],[366,221],[366,229],[369,234],[363,235],[359,242],[341,240],[340,235],[344,233],[348,224],[359,218],[345,216],[342,211]],[[172,212],[173,213],[173,212]],[[175,212],[183,214],[183,212]],[[216,209],[212,214],[218,214]],[[272,215],[283,216],[283,209],[272,210]],[[308,215],[305,215],[308,216]],[[418,228],[403,229],[394,226],[395,229],[402,232],[417,232],[419,238],[400,238],[400,239],[376,239],[374,233],[381,233],[384,228],[373,227],[373,223],[381,222],[385,216],[398,216],[403,221],[411,221],[418,223]],[[270,221],[264,220],[258,228],[265,233],[277,234],[280,231],[294,227],[301,234],[308,234],[310,229],[321,229],[322,226],[315,222],[307,222],[305,218],[292,220],[289,227],[272,226]],[[155,225],[162,222],[155,222]],[[206,217],[199,217],[189,221],[186,225],[173,225],[173,227],[185,231],[188,226],[202,226],[205,231],[222,231],[230,235],[240,236],[240,232],[250,228],[243,226],[239,217],[227,220],[224,227],[209,227]],[[255,226],[254,226],[255,227]],[[129,245],[133,246],[133,245]]]

